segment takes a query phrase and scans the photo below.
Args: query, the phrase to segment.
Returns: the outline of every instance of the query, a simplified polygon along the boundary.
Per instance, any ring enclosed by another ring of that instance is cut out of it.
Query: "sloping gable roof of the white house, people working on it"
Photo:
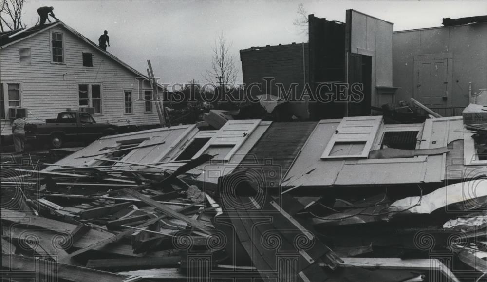
[[[95,44],[93,41],[86,38],[85,36],[83,36],[82,34],[77,32],[75,29],[71,28],[70,26],[68,26],[67,24],[65,24],[64,22],[62,22],[60,20],[53,22],[53,23],[45,24],[43,26],[35,25],[33,27],[26,28],[26,29],[17,29],[17,30],[2,32],[2,33],[0,33],[0,49],[7,48],[10,45],[13,45],[19,41],[24,40],[24,39],[33,37],[33,36],[43,32],[45,30],[48,30],[48,29],[53,28],[53,27],[58,26],[58,25],[64,27],[65,29],[67,29],[68,31],[73,33],[76,37],[80,38],[81,40],[85,41],[88,45],[91,45],[92,47],[97,49],[103,55],[110,57],[112,60],[114,60],[118,64],[122,65],[122,67],[128,69],[130,72],[132,72],[136,76],[140,76],[140,77],[143,77],[143,78],[149,80],[149,78],[146,75],[143,75],[139,71],[135,70],[134,68],[132,68],[131,66],[129,66],[128,64],[126,64],[125,62],[123,62],[122,60],[117,58],[116,56],[113,56],[109,52],[103,50],[97,44]],[[158,84],[158,85],[160,88],[165,89],[162,85],[160,85],[160,84]]]

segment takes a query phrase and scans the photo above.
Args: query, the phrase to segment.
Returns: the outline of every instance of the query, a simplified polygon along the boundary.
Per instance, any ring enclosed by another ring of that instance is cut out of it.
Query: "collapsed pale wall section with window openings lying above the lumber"
[[[441,183],[486,175],[474,134],[464,129],[462,117],[420,124],[384,124],[382,116],[307,123],[229,120],[218,131],[183,125],[103,137],[45,170],[110,165],[174,171],[208,154],[214,158],[189,170],[188,177],[216,184],[247,164],[264,168],[264,176],[272,170],[276,187]]]

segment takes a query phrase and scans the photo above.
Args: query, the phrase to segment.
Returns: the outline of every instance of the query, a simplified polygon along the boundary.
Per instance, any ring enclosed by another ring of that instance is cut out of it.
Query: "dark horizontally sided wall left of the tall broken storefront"
[[[254,97],[260,94],[281,96],[276,83],[280,83],[286,92],[293,83],[297,84],[299,97],[308,80],[308,43],[252,47],[240,51],[240,60],[246,87],[254,83],[261,86],[261,90],[252,87],[249,94]],[[263,80],[265,77],[274,78],[270,88]],[[308,118],[306,102],[292,105],[296,116]]]

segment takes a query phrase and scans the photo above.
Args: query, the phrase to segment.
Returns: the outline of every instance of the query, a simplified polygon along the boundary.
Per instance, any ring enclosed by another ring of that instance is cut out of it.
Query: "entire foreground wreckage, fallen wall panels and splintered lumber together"
[[[486,164],[462,153],[485,129],[381,122],[228,120],[107,136],[57,161],[3,156],[2,277],[485,280]],[[370,156],[326,153],[368,123]],[[400,128],[426,141],[381,149]]]

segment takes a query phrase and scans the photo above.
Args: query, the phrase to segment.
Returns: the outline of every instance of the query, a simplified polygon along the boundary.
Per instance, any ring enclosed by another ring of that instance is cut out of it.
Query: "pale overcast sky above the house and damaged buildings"
[[[441,26],[442,18],[487,14],[487,1],[26,1],[23,22],[38,20],[37,8],[53,6],[56,17],[98,42],[108,30],[108,51],[141,73],[150,59],[161,83],[204,83],[211,46],[219,33],[239,50],[306,42],[293,25],[299,3],[308,14],[345,22],[345,10],[394,23],[394,31]],[[242,82],[240,74],[237,82]]]

